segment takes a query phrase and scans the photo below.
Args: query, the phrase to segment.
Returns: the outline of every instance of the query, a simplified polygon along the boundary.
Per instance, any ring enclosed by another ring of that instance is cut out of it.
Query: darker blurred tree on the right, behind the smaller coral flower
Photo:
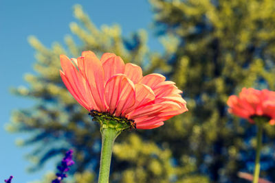
[[[176,159],[182,154],[195,158],[199,172],[212,182],[243,182],[236,171],[252,172],[255,127],[232,119],[225,103],[244,86],[275,89],[274,1],[151,3],[172,66],[168,75],[184,89],[190,109],[160,128],[157,142],[167,142]],[[273,181],[274,136],[275,128],[267,125],[262,175]]]

